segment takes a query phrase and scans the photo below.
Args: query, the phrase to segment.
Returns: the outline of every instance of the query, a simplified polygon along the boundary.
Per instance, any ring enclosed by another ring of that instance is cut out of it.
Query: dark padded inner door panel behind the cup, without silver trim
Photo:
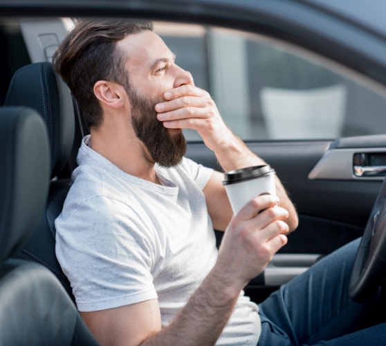
[[[365,146],[363,138],[358,139],[360,145]],[[374,138],[370,139],[374,145]],[[309,179],[309,173],[329,150],[331,141],[247,144],[275,168],[299,213],[299,227],[291,233],[280,253],[325,255],[362,235],[381,181]],[[190,143],[187,157],[221,170],[214,152],[203,143]],[[221,233],[217,233],[217,237],[221,237]]]

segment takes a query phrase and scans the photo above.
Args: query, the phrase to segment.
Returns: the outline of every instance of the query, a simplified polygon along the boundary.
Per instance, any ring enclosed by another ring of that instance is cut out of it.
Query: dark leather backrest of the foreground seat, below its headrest
[[[0,345],[96,346],[63,286],[39,264],[0,266]]]

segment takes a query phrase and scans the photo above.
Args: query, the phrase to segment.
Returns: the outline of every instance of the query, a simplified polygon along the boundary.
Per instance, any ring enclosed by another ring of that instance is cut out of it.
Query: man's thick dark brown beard
[[[183,133],[170,135],[163,122],[157,119],[157,98],[145,98],[134,88],[129,89],[131,124],[138,139],[145,145],[151,158],[161,167],[174,167],[181,163],[186,153]]]

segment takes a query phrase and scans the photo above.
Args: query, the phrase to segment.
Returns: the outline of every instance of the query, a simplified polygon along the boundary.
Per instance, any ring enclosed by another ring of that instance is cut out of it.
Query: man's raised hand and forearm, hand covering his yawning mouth
[[[170,129],[194,129],[199,132],[205,145],[212,149],[223,169],[228,172],[253,165],[264,165],[261,158],[237,138],[223,122],[219,110],[209,93],[192,85],[179,86],[164,94],[167,102],[157,104],[158,120]],[[295,207],[286,194],[286,190],[276,177],[279,206],[289,212],[288,224],[290,231],[297,227]],[[232,212],[226,218],[231,217]],[[211,215],[212,217],[212,215]]]

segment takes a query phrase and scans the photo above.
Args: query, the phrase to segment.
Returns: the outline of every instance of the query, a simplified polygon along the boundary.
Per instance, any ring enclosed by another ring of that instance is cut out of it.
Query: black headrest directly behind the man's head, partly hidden
[[[51,178],[57,175],[70,156],[75,134],[71,93],[50,62],[37,62],[17,70],[10,82],[4,106],[36,109],[46,122]]]

